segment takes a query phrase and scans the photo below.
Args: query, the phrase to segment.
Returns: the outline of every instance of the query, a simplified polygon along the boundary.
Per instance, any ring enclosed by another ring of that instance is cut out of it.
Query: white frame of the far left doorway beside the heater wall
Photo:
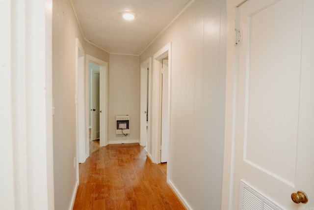
[[[104,110],[102,112],[100,121],[103,120],[103,126],[100,127],[100,147],[106,146],[108,144],[108,63],[104,60],[97,59],[93,56],[86,54],[86,62],[85,62],[85,105],[88,107],[88,98],[89,98],[89,87],[88,87],[88,72],[89,72],[89,62],[93,62],[100,66],[100,89],[104,90],[104,94],[100,95],[100,110]],[[89,129],[89,109],[85,109],[86,116],[86,129]],[[89,136],[86,136],[86,141],[88,142],[88,150],[86,148],[86,152],[89,155]]]

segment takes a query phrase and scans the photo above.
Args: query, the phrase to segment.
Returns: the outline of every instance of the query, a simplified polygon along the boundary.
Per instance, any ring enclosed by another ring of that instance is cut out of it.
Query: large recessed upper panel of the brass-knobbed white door
[[[253,12],[241,16],[241,23],[248,23],[246,50],[240,54],[244,64],[241,78],[246,84],[240,90],[246,103],[244,159],[292,184],[298,133],[302,4],[282,0],[257,12],[254,8]],[[297,15],[290,15],[293,12]],[[291,23],[295,27],[287,34]]]

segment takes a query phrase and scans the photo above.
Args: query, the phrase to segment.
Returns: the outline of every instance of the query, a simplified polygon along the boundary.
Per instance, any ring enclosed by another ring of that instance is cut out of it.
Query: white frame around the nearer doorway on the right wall
[[[170,127],[170,96],[171,96],[171,42],[166,44],[161,48],[153,57],[153,75],[152,75],[152,161],[154,163],[160,163],[160,145],[161,145],[161,68],[162,68],[162,59],[168,56],[168,116],[166,118],[169,121]],[[169,164],[171,164],[171,156],[169,155],[169,146],[170,146],[170,129],[168,136],[168,162],[167,169]],[[168,174],[168,172],[167,172]],[[169,176],[167,176],[168,179]]]

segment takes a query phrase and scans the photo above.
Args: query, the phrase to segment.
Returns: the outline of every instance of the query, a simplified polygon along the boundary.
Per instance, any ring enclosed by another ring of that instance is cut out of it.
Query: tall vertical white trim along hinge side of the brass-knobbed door
[[[235,29],[237,8],[227,11],[228,29]],[[234,30],[227,33],[227,64],[226,64],[226,108],[225,108],[225,145],[222,180],[221,209],[233,209],[234,186],[234,155],[235,155],[235,118],[236,118],[236,87],[237,69],[235,68]]]

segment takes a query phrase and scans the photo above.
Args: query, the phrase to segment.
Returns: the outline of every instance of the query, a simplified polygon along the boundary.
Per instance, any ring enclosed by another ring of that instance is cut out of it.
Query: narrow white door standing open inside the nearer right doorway
[[[169,140],[169,108],[168,108],[168,60],[162,60],[162,105],[161,105],[161,158],[160,162],[168,160]]]

